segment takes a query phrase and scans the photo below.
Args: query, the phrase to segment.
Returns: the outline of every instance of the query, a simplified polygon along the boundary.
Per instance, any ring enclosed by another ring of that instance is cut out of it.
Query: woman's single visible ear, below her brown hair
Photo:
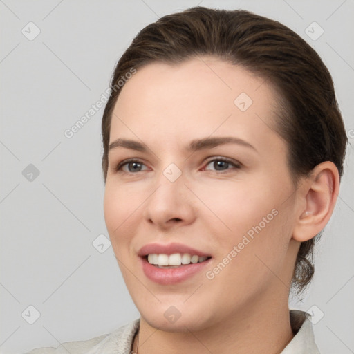
[[[298,190],[297,221],[292,239],[308,241],[324,229],[339,193],[339,173],[333,162],[317,165]]]

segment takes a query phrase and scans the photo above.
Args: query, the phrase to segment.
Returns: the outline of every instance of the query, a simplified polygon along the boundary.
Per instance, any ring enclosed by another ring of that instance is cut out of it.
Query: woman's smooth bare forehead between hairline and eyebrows
[[[111,141],[158,136],[169,141],[233,131],[256,139],[270,129],[276,111],[272,87],[250,71],[214,57],[180,64],[152,63],[123,86],[113,110]]]

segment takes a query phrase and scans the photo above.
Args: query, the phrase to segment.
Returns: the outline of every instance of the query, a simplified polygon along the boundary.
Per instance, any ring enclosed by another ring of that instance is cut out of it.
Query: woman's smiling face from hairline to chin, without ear
[[[149,64],[124,84],[104,215],[151,326],[198,330],[287,301],[297,192],[276,103],[263,79],[212,57]]]

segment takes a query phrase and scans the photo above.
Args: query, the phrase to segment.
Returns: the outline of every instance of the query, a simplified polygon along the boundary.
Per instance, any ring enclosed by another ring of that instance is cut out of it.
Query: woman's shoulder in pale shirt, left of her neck
[[[54,347],[35,348],[25,354],[88,354],[88,353],[129,353],[131,342],[139,327],[139,319],[124,324],[112,333],[84,341],[65,342]]]

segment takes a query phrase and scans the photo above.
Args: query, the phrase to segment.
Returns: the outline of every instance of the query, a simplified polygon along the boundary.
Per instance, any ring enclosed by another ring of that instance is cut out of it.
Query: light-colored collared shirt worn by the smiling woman
[[[80,342],[66,342],[57,348],[37,348],[26,354],[130,354],[140,319],[116,329],[112,333]],[[295,337],[281,354],[319,354],[313,335],[310,315],[290,310],[290,324]]]

